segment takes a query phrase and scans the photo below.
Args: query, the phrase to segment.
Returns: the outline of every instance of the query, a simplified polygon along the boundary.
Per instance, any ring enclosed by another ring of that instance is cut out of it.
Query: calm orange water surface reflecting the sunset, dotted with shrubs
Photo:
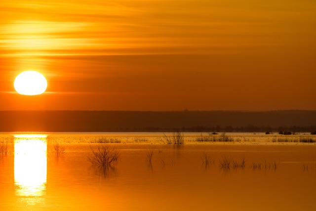
[[[166,135],[1,134],[0,210],[316,210],[315,135]]]

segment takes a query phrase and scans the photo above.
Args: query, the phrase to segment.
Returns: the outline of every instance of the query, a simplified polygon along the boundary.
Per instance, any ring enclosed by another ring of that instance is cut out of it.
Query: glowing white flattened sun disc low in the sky
[[[38,95],[45,92],[47,80],[39,72],[25,71],[15,78],[14,88],[19,94]]]

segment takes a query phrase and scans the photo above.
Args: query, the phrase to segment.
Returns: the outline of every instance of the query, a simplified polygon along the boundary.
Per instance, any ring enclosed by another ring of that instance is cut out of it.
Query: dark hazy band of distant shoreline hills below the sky
[[[0,111],[0,131],[312,132],[316,111]]]

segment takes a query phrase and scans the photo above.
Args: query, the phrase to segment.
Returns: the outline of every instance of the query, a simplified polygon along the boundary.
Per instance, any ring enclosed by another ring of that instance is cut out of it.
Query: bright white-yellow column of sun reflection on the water
[[[17,196],[39,197],[46,191],[47,136],[14,135],[14,183]]]

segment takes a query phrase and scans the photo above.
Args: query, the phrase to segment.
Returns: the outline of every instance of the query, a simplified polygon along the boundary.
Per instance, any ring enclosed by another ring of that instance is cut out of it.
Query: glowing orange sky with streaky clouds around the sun
[[[315,0],[8,0],[0,110],[316,109]],[[22,96],[36,70],[47,93]]]

